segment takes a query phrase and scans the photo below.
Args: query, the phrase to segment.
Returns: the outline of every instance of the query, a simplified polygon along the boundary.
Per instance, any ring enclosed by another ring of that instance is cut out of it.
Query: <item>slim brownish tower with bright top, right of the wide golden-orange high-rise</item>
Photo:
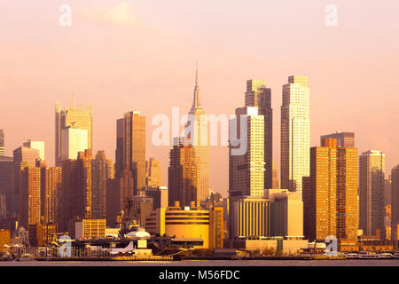
[[[370,150],[359,157],[359,229],[375,236],[379,230],[385,239],[385,154]]]

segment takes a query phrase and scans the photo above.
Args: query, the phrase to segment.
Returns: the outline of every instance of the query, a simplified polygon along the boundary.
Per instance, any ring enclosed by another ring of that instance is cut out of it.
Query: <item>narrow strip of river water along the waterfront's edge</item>
[[[399,266],[399,259],[0,262],[0,266]]]

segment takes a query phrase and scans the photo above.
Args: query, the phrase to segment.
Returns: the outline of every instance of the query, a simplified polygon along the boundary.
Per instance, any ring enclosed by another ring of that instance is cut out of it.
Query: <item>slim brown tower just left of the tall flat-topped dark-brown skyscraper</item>
[[[113,162],[106,159],[104,151],[98,151],[92,161],[92,189],[91,189],[91,217],[94,219],[106,218],[106,183],[114,178]]]

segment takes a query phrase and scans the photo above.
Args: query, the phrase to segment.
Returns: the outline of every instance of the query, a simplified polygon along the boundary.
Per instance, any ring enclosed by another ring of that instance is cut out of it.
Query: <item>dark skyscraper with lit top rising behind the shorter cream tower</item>
[[[257,106],[258,114],[264,116],[264,186],[273,185],[273,110],[271,108],[271,89],[266,88],[265,80],[246,81],[246,106]]]

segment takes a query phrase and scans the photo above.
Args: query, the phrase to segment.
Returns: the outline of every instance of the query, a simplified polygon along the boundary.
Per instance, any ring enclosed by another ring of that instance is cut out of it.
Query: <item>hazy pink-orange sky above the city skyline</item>
[[[59,25],[59,6],[72,26]],[[338,26],[325,7],[338,7]],[[399,1],[397,0],[2,0],[0,128],[6,154],[28,138],[54,162],[54,104],[93,106],[94,151],[114,159],[115,123],[147,117],[147,158],[168,185],[168,146],[151,143],[153,115],[192,106],[195,61],[207,114],[244,105],[246,80],[272,89],[274,159],[279,164],[282,85],[308,75],[311,145],[336,130],[355,131],[359,153],[399,163]],[[279,172],[279,170],[278,170]],[[228,149],[211,149],[211,185],[228,189]]]

